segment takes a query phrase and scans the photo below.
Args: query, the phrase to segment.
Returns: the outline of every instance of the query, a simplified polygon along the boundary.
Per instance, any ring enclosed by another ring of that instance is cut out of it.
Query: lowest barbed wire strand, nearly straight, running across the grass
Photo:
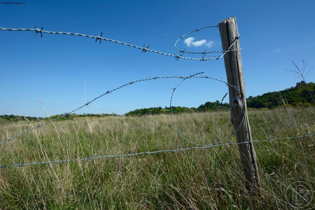
[[[87,161],[87,160],[95,160],[95,159],[101,159],[101,158],[119,158],[119,157],[137,156],[137,155],[143,155],[143,154],[155,154],[155,153],[163,153],[163,152],[178,152],[178,151],[185,151],[185,150],[190,150],[190,149],[205,149],[205,148],[214,148],[214,147],[217,147],[217,146],[262,143],[262,142],[271,142],[271,141],[280,140],[280,139],[304,138],[304,137],[308,137],[308,136],[315,136],[315,134],[303,135],[303,136],[294,136],[294,137],[285,137],[285,138],[276,138],[276,139],[256,140],[256,141],[241,142],[241,143],[230,142],[230,143],[220,144],[220,145],[208,145],[208,146],[201,146],[201,147],[189,147],[189,148],[180,148],[180,149],[158,150],[158,151],[152,151],[152,152],[139,152],[139,153],[123,154],[123,155],[106,155],[106,156],[89,157],[89,158],[68,159],[68,160],[62,160],[62,161],[19,163],[19,164],[13,164],[13,165],[1,165],[0,168],[39,165],[39,164],[53,164],[53,163],[61,163],[61,162]]]

